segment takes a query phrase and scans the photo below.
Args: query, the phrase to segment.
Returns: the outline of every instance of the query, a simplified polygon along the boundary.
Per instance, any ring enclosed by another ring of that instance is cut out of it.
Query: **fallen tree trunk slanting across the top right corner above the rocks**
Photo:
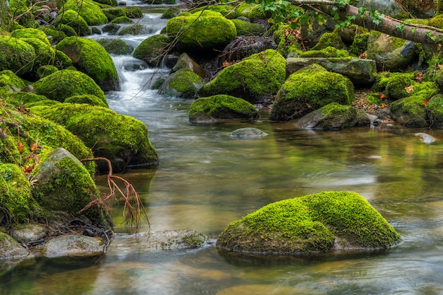
[[[337,6],[338,2],[330,0],[289,0],[292,4],[302,5],[308,9],[321,11],[329,15],[331,6]],[[311,5],[315,5],[315,8]],[[347,16],[355,16],[352,23],[360,25],[368,30],[377,30],[394,37],[400,37],[405,40],[418,42],[426,45],[435,45],[436,47],[443,44],[443,30],[434,28],[429,25],[415,25],[398,21],[395,18],[384,16],[380,19],[379,25],[376,25],[369,16],[369,12],[362,18],[355,6],[347,6],[339,13],[340,19],[345,21]]]

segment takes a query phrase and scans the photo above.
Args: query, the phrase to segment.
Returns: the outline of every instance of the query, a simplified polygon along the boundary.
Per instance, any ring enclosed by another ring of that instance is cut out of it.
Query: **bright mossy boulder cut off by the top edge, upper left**
[[[63,11],[59,14],[63,14],[68,10],[75,11],[88,25],[108,23],[108,17],[101,11],[100,6],[91,0],[67,0],[63,4],[62,9]]]

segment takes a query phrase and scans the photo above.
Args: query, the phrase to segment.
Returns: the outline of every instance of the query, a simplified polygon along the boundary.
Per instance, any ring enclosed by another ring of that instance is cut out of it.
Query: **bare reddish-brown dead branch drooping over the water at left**
[[[110,192],[107,196],[101,199],[94,199],[93,201],[89,202],[83,209],[80,210],[80,212],[83,212],[84,210],[91,208],[93,206],[99,206],[99,205],[108,205],[110,203],[110,199],[114,198],[117,199],[115,191],[120,193],[120,195],[125,200],[125,204],[123,207],[123,217],[125,218],[125,223],[129,224],[130,226],[135,226],[135,230],[138,231],[140,221],[141,219],[146,220],[148,223],[149,228],[151,225],[149,224],[149,219],[146,214],[146,211],[144,210],[144,206],[142,203],[142,200],[140,199],[139,195],[135,191],[132,184],[130,184],[125,178],[122,178],[120,176],[113,175],[113,167],[108,160],[108,158],[103,157],[97,157],[97,158],[84,158],[80,160],[81,162],[84,161],[106,161],[108,163],[108,187],[110,189]],[[122,190],[121,187],[115,183],[115,180],[120,180],[125,184],[125,189]]]

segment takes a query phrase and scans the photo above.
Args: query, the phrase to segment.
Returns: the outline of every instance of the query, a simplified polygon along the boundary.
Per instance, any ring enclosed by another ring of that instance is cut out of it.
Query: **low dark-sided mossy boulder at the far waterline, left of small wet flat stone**
[[[220,94],[194,100],[189,108],[191,123],[217,123],[229,120],[255,120],[258,112],[242,98]]]

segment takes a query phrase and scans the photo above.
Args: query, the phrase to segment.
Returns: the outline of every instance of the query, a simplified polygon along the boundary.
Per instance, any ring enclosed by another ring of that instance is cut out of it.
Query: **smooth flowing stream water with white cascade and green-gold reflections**
[[[149,18],[161,22],[157,14]],[[158,168],[122,175],[142,198],[151,231],[190,229],[211,240],[196,249],[146,249],[145,238],[129,238],[115,207],[117,236],[105,257],[20,265],[0,273],[0,294],[443,294],[442,130],[297,130],[268,122],[265,109],[257,122],[191,125],[191,100],[142,87],[166,69],[128,71],[138,62],[113,59],[122,87],[108,93],[110,108],[145,122],[160,155]],[[229,137],[241,127],[269,135]],[[415,132],[438,140],[425,144]],[[104,190],[104,178],[97,181]],[[310,257],[215,248],[229,222],[270,202],[323,190],[358,192],[403,241],[381,253]]]

